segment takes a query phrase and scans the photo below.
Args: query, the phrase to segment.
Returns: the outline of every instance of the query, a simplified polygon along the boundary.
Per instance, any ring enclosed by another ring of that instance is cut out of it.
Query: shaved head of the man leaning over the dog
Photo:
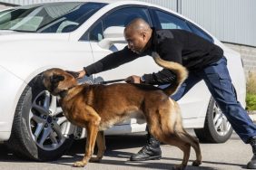
[[[133,52],[142,53],[152,36],[150,25],[141,18],[134,19],[124,29],[124,37],[128,42],[128,48]]]

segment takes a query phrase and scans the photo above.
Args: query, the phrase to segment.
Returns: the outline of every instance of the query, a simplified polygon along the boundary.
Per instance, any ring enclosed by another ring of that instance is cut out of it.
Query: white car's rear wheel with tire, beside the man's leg
[[[210,99],[204,127],[194,129],[196,136],[202,143],[224,143],[232,134],[230,122],[219,109],[214,99]]]

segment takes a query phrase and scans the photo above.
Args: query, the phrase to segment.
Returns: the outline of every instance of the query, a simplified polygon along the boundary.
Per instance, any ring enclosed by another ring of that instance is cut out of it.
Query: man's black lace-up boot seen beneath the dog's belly
[[[147,135],[147,143],[143,148],[133,156],[130,157],[131,161],[145,161],[160,159],[162,151],[160,148],[160,142],[156,140],[149,132]]]

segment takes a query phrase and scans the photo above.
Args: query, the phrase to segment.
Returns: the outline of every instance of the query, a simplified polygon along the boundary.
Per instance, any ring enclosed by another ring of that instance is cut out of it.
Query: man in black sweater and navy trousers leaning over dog
[[[192,86],[200,80],[204,80],[212,97],[241,140],[246,144],[251,144],[253,156],[247,167],[256,168],[256,126],[235,97],[222,49],[212,42],[186,31],[156,31],[143,19],[135,19],[128,24],[124,30],[124,36],[128,45],[122,51],[113,52],[102,60],[84,67],[83,71],[76,72],[79,74],[78,79],[155,53],[160,55],[162,60],[178,62],[188,69],[189,77],[182,84],[180,90],[172,96],[172,99],[181,99],[188,90],[192,89]],[[176,75],[172,71],[163,69],[157,73],[144,74],[142,77],[133,75],[125,81],[163,85],[172,84],[175,80]],[[132,161],[159,159],[161,155],[159,141],[148,134],[146,146],[143,146],[130,159]]]

